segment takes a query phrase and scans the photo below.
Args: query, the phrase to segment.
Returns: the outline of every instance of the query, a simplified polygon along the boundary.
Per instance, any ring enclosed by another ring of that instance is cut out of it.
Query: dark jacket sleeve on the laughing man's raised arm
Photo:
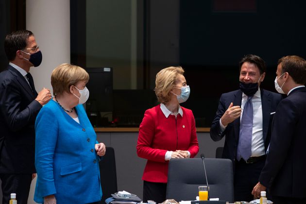
[[[223,138],[225,135],[226,129],[222,132],[221,127],[220,127],[220,119],[227,110],[227,107],[225,107],[225,102],[224,102],[224,95],[221,95],[220,101],[219,101],[219,106],[218,110],[216,113],[216,116],[211,124],[210,127],[210,137],[214,141],[219,141]]]

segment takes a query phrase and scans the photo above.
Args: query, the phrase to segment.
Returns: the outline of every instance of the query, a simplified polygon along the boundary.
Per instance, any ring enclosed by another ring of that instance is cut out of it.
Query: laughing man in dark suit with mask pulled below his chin
[[[266,74],[260,57],[246,55],[239,68],[240,89],[221,95],[210,137],[219,141],[225,136],[222,157],[233,161],[235,201],[249,202],[264,166],[270,121],[282,96],[259,88]]]

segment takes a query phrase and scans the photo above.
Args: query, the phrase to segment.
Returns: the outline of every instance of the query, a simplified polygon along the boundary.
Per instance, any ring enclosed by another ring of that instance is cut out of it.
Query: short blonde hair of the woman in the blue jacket
[[[89,80],[89,75],[84,68],[68,63],[61,64],[51,73],[51,85],[53,95],[60,95],[65,91],[69,93],[71,85],[76,85],[80,81]]]

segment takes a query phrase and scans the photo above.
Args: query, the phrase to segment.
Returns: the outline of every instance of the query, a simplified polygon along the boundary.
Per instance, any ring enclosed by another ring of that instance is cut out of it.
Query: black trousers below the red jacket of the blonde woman
[[[155,183],[143,181],[143,198],[142,201],[147,203],[152,200],[157,204],[166,200],[167,183]]]

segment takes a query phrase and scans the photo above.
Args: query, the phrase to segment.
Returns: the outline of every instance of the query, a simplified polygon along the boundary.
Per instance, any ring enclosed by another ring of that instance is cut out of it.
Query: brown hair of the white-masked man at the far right
[[[302,57],[291,55],[278,60],[282,65],[282,74],[288,72],[296,84],[306,83],[306,61]]]

